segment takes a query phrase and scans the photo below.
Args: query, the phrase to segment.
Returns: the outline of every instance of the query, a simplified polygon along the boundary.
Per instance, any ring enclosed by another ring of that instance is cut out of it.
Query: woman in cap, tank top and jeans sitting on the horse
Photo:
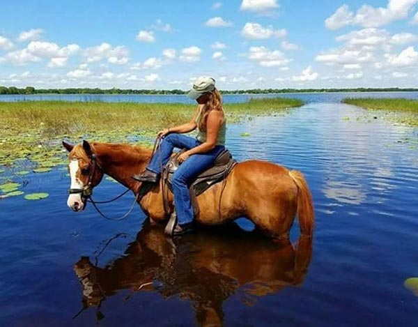
[[[215,88],[215,79],[199,77],[187,96],[199,104],[192,120],[158,132],[158,136],[164,137],[160,144],[161,151],[155,152],[144,173],[132,176],[137,181],[157,183],[161,175],[160,162],[166,165],[174,148],[187,149],[178,157],[181,165],[174,172],[172,180],[178,217],[173,235],[181,235],[193,230],[193,208],[189,185],[201,172],[212,167],[217,155],[225,149],[225,114],[222,109],[222,98]],[[196,138],[181,135],[196,128]]]

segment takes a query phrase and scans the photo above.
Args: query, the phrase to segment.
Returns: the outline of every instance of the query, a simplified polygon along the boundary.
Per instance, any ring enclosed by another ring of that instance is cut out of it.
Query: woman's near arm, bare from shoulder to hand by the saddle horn
[[[189,155],[196,154],[196,153],[205,153],[213,148],[215,148],[217,144],[217,135],[219,132],[219,128],[222,125],[222,120],[224,119],[224,114],[219,111],[212,111],[208,115],[208,121],[206,122],[206,142],[203,142],[201,145],[196,146],[195,148],[189,149],[182,153],[178,160],[183,162]]]

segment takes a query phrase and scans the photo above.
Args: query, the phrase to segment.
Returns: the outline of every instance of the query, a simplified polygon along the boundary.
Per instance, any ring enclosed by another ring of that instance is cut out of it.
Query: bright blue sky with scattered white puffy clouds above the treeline
[[[2,1],[0,85],[418,87],[418,0]]]

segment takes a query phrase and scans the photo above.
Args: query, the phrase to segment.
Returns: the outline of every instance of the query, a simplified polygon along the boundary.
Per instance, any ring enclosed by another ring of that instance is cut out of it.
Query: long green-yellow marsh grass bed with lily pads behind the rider
[[[229,122],[238,122],[247,115],[301,105],[302,101],[287,98],[251,99],[224,109]],[[132,137],[153,137],[161,128],[189,121],[195,108],[178,103],[0,102],[0,165],[17,159],[45,163],[62,150],[62,139],[130,142]]]

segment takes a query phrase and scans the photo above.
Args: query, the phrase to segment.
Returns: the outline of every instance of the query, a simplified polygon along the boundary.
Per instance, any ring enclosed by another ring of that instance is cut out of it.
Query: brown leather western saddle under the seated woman
[[[169,162],[167,162],[166,167],[164,168],[163,178],[164,182],[168,185],[171,192],[173,191],[173,186],[171,181],[173,180],[173,174],[176,172],[180,163],[178,162],[178,156],[183,153],[185,150],[176,153],[173,155]],[[236,160],[232,158],[231,153],[228,150],[224,150],[215,159],[215,163],[212,167],[202,172],[190,185],[190,195],[197,197],[205,192],[211,185],[222,181],[228,174],[231,172],[231,169],[237,164]]]

